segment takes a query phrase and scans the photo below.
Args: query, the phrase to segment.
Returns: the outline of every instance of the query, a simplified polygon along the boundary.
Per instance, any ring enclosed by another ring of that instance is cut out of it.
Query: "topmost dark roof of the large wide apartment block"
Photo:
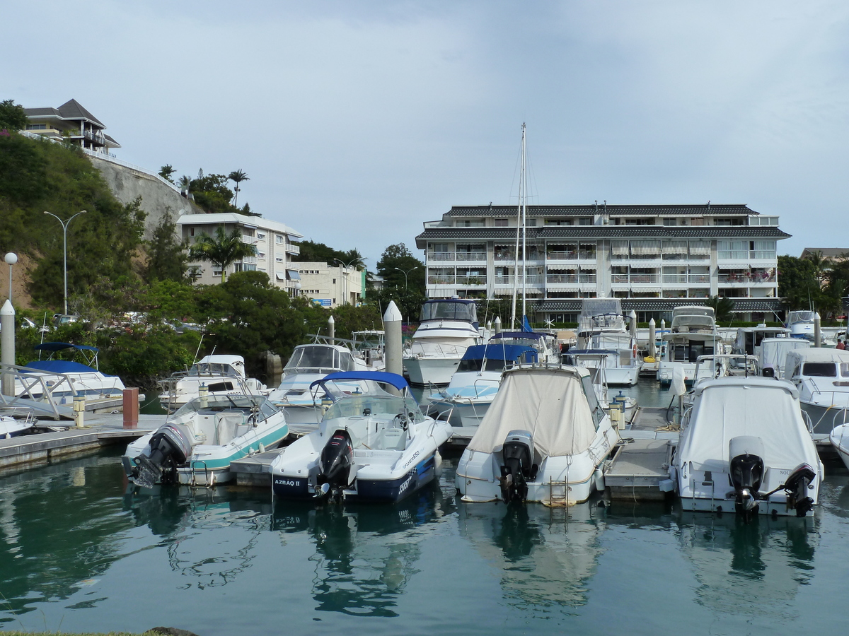
[[[448,216],[512,216],[516,205],[453,205]],[[746,204],[675,204],[675,205],[529,205],[530,216],[617,215],[756,215]]]

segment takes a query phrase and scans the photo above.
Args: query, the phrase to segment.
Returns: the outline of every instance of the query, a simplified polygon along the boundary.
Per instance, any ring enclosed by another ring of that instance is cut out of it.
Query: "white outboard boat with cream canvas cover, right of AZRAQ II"
[[[463,451],[456,485],[466,502],[572,505],[604,489],[604,458],[619,435],[580,366],[522,365]]]

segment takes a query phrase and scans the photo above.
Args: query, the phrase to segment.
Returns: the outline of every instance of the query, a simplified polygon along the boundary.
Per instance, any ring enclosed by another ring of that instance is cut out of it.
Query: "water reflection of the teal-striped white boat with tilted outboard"
[[[137,526],[163,538],[172,572],[189,577],[182,589],[231,583],[256,557],[260,533],[268,530],[271,502],[267,490],[244,488],[127,487],[124,510]],[[211,534],[239,527],[242,532]],[[214,540],[211,538],[214,537]]]

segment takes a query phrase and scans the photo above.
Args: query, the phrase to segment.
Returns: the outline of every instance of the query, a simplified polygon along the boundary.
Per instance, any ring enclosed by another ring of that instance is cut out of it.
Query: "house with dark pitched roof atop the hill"
[[[95,153],[109,154],[121,144],[107,135],[106,126],[82,105],[71,99],[58,109],[24,109],[29,121],[26,130],[55,140],[67,139]]]

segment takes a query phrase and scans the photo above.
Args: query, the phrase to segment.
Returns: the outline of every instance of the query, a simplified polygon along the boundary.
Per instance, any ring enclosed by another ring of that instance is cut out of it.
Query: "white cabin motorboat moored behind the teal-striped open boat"
[[[233,354],[211,354],[188,371],[174,373],[165,382],[159,399],[162,408],[172,412],[199,397],[201,393],[267,395],[267,387],[254,377],[245,377],[245,358]]]

